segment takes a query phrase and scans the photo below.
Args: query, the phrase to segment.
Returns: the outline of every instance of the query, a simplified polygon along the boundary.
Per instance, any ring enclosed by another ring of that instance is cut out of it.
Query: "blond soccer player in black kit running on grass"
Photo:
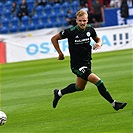
[[[61,90],[54,90],[53,108],[56,108],[63,95],[83,91],[89,81],[96,85],[101,96],[111,103],[115,110],[123,109],[127,103],[116,102],[107,91],[103,81],[91,71],[92,46],[90,45],[90,38],[96,42],[93,46],[94,50],[101,48],[102,41],[97,36],[95,29],[88,24],[86,11],[79,10],[76,13],[76,23],[76,26],[62,30],[51,38],[53,46],[59,54],[59,60],[64,60],[64,54],[60,49],[58,40],[68,39],[71,70],[77,75],[76,83],[71,83]]]

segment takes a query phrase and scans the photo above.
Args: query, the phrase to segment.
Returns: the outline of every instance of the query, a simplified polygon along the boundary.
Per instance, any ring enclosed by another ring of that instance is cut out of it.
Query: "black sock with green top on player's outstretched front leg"
[[[96,83],[96,86],[98,88],[98,91],[99,93],[101,94],[102,97],[104,97],[108,102],[110,103],[113,103],[114,100],[113,98],[111,97],[110,93],[107,91],[107,89],[105,88],[102,80],[99,80],[97,83]]]

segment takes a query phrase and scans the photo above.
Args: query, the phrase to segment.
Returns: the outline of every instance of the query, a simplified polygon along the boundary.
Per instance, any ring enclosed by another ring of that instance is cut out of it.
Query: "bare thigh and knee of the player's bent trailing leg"
[[[85,86],[86,86],[86,83],[87,81],[80,78],[80,77],[77,77],[76,79],[76,86],[81,89],[81,90],[84,90]]]

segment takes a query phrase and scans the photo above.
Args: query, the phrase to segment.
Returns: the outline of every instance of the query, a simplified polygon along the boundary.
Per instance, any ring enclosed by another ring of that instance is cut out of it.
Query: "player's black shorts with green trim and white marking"
[[[88,81],[88,76],[92,73],[91,72],[91,64],[87,66],[82,66],[79,68],[71,68],[72,72],[76,74],[78,77],[81,77],[84,80]]]

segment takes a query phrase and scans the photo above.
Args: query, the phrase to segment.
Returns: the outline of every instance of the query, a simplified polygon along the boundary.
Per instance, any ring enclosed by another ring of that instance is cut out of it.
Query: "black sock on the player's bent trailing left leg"
[[[61,94],[68,94],[68,93],[73,93],[75,91],[80,91],[80,89],[75,85],[75,84],[70,84],[66,88],[61,90]]]

